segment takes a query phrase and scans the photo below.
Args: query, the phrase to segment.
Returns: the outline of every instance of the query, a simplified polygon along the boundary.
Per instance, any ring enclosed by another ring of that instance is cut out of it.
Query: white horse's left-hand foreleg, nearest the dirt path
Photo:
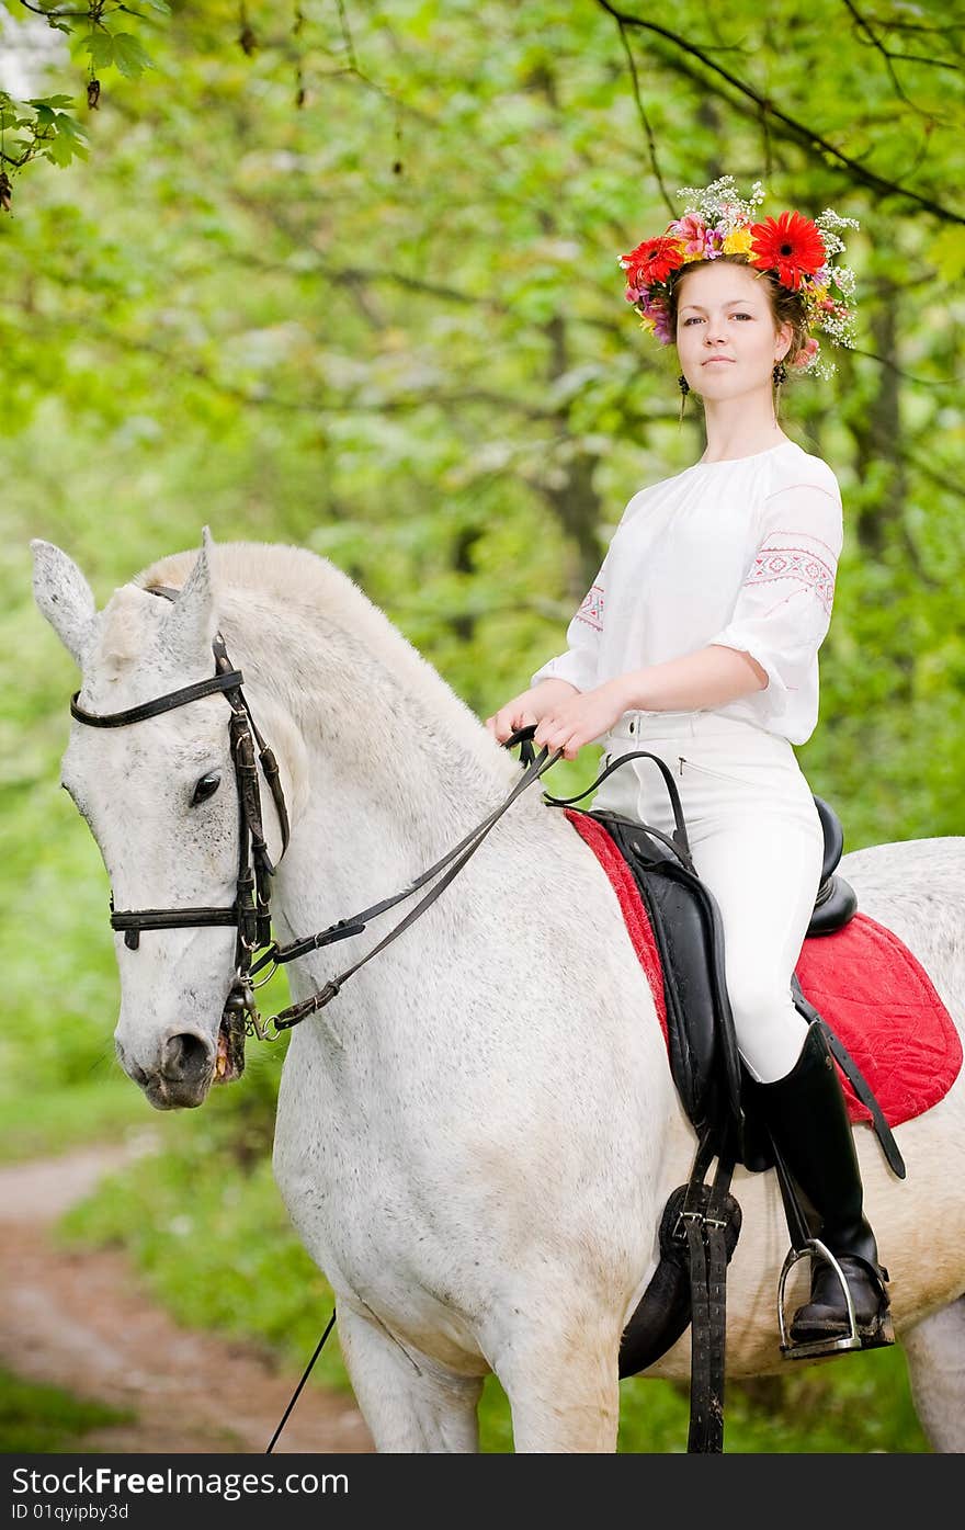
[[[344,1304],[338,1305],[338,1339],[376,1450],[479,1450],[476,1409],[482,1377],[444,1369],[404,1348],[388,1330]]]

